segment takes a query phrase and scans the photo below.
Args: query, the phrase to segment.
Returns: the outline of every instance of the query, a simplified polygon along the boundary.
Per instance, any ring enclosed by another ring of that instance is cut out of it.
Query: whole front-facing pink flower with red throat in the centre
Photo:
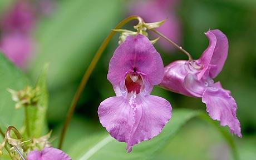
[[[150,95],[164,77],[160,54],[142,36],[129,36],[110,60],[107,79],[116,96],[99,106],[99,117],[112,137],[132,146],[161,132],[171,118],[171,105],[164,98]]]

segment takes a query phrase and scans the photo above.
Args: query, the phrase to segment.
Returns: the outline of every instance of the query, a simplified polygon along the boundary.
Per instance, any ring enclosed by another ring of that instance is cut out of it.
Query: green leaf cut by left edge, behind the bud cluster
[[[15,102],[7,88],[16,91],[29,84],[26,76],[0,53],[0,127],[5,130],[8,126],[21,128],[24,119],[23,109],[15,109]]]

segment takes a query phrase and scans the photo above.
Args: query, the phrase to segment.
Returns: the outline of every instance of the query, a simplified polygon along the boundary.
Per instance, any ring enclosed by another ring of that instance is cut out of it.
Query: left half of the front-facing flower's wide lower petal
[[[128,142],[134,123],[134,108],[125,97],[110,97],[101,102],[98,109],[100,123],[112,137],[120,142]]]

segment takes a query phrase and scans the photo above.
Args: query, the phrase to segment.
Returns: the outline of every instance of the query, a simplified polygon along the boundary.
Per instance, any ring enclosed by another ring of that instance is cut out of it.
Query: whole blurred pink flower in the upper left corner
[[[18,67],[24,68],[32,52],[33,7],[28,2],[18,1],[3,16],[0,49]]]

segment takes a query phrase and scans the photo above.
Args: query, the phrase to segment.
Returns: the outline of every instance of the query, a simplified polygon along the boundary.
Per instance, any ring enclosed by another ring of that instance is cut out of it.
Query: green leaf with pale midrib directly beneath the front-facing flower
[[[126,153],[125,143],[117,142],[114,138],[106,134],[98,134],[85,137],[80,142],[73,145],[67,152],[73,159],[152,159],[159,153],[179,129],[191,118],[205,118],[205,113],[191,111],[189,109],[176,109],[173,117],[166,124],[163,131],[150,141],[142,142],[132,148],[131,153]],[[220,127],[218,127],[220,128]],[[221,132],[222,133],[222,132]],[[229,137],[231,136],[228,134]],[[232,146],[234,147],[234,146]]]

